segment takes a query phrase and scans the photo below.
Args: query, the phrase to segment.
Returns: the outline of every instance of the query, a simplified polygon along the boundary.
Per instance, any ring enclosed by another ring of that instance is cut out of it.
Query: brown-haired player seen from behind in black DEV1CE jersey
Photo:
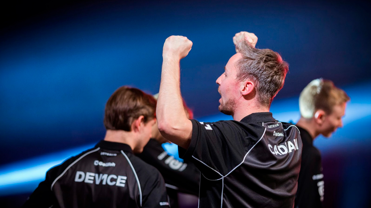
[[[151,138],[156,102],[118,88],[105,106],[104,140],[47,171],[23,207],[169,207],[160,172],[134,155]]]

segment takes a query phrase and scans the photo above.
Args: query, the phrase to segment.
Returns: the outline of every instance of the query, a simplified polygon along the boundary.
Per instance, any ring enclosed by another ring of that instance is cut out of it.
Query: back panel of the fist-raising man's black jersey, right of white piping
[[[295,126],[281,122],[262,123],[263,137],[243,163],[224,179],[225,198],[233,207],[292,207],[301,160],[301,138]],[[299,138],[299,140],[298,140]],[[239,182],[244,181],[243,184]],[[227,190],[228,189],[228,190]],[[238,198],[247,193],[251,197]]]

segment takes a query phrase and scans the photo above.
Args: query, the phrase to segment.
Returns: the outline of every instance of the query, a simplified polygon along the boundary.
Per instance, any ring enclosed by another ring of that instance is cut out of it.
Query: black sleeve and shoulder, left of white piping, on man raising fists
[[[187,150],[179,147],[179,156],[192,159],[201,173],[213,180],[227,175],[243,161],[257,132],[235,121],[203,123],[192,121],[192,137]],[[261,135],[260,135],[261,136]]]

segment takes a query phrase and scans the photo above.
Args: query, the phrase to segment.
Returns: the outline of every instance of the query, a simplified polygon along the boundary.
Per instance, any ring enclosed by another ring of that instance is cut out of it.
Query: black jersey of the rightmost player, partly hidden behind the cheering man
[[[313,146],[313,138],[305,129],[297,126],[303,141],[301,169],[295,208],[321,208],[324,199],[324,175],[322,174],[321,153]]]

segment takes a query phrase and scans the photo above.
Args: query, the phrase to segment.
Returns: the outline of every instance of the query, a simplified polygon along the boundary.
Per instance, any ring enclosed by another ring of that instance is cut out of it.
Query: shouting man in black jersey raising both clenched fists
[[[180,93],[180,60],[192,42],[165,40],[157,103],[161,134],[179,146],[201,171],[199,207],[292,208],[300,170],[298,129],[275,120],[270,104],[283,87],[288,64],[269,49],[257,49],[253,33],[233,38],[234,54],[217,78],[219,110],[233,120],[188,120]]]

